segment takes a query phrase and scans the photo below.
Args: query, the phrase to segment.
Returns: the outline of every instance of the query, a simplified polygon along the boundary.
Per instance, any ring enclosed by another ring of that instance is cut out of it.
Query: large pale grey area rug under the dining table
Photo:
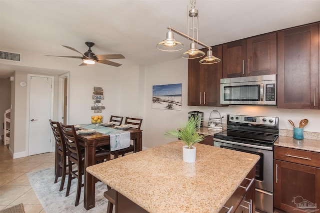
[[[54,168],[47,168],[36,172],[26,173],[29,182],[38,197],[42,207],[46,213],[105,213],[107,208],[107,200],[103,197],[103,193],[107,190],[106,185],[102,182],[95,184],[95,207],[86,211],[83,207],[83,187],[79,205],[74,206],[77,179],[71,182],[70,193],[65,197],[67,177],[65,178],[64,188],[59,192],[60,178],[54,184]]]

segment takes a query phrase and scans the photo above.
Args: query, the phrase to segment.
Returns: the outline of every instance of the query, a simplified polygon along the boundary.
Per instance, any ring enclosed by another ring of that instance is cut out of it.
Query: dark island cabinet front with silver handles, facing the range
[[[249,172],[219,213],[255,212],[255,167]]]

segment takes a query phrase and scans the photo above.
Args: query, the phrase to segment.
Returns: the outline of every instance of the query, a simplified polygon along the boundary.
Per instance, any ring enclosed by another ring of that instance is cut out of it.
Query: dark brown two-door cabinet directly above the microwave
[[[276,33],[222,45],[222,77],[276,74]]]

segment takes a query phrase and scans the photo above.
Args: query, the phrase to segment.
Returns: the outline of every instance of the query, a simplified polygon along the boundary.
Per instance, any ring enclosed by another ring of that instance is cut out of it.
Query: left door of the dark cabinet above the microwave
[[[222,45],[222,77],[246,76],[246,40],[232,41]]]

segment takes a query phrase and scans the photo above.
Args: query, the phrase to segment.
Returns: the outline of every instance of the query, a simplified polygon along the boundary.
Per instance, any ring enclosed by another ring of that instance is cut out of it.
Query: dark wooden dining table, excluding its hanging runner
[[[80,129],[88,127],[89,124],[80,124]],[[86,172],[86,168],[95,164],[95,150],[99,146],[110,144],[110,135],[101,132],[107,132],[105,128],[114,128],[116,125],[108,127],[96,126],[95,132],[91,134],[78,134],[80,146],[84,147],[84,209],[89,210],[95,207],[95,178]],[[134,151],[142,150],[142,130],[127,128],[123,131],[130,133],[130,140],[133,140]]]

